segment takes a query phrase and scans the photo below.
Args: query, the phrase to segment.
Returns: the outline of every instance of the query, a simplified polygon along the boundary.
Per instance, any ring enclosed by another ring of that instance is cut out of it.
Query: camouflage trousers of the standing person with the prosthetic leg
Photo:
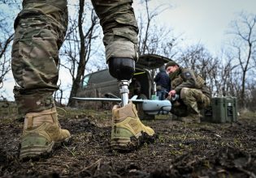
[[[92,0],[102,29],[106,60],[137,60],[137,22],[132,0]],[[59,89],[59,49],[67,31],[67,0],[24,0],[15,19],[11,70],[17,86],[15,101],[20,114],[54,106]]]

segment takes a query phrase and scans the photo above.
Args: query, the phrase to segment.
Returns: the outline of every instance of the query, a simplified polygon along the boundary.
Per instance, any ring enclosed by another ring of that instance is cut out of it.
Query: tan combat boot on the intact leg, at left
[[[39,159],[48,157],[53,148],[68,143],[71,135],[61,129],[56,108],[42,112],[29,112],[25,116],[21,139],[20,159]]]

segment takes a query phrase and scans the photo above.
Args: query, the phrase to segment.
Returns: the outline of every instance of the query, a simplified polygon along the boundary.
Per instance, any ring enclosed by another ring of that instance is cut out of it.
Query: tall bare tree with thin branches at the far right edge
[[[238,19],[232,22],[232,51],[241,70],[241,107],[245,107],[245,84],[249,70],[255,66],[256,57],[256,15],[241,12]]]

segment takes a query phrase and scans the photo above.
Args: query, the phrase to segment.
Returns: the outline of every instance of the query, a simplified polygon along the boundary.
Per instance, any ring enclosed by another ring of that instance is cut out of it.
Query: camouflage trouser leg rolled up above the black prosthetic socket
[[[106,61],[111,57],[127,57],[137,61],[137,21],[132,0],[92,0],[102,25]]]

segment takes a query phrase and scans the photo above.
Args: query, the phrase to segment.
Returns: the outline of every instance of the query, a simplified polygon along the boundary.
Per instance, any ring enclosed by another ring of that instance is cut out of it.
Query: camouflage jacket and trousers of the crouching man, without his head
[[[180,100],[172,101],[171,113],[185,117],[189,113],[199,114],[200,109],[210,105],[210,91],[193,70],[180,67],[170,77],[171,88],[180,95]]]

